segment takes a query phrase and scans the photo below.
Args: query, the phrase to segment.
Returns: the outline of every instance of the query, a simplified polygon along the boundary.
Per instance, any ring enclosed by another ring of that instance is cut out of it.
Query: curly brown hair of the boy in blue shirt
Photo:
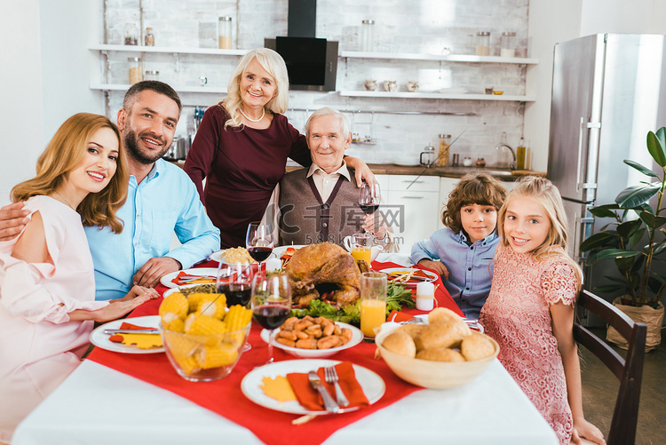
[[[499,211],[506,198],[506,189],[499,179],[485,171],[470,171],[458,182],[441,213],[441,222],[454,232],[463,230],[460,210],[470,204],[491,205]]]

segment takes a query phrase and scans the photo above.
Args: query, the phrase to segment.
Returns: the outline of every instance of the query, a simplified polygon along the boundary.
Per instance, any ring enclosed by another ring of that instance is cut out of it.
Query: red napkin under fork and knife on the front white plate
[[[370,403],[368,398],[365,396],[365,393],[363,393],[363,388],[361,388],[358,380],[356,380],[356,374],[353,371],[352,362],[338,363],[336,365],[336,370],[337,377],[340,378],[337,383],[340,385],[340,388],[342,388],[342,392],[347,396],[349,407],[369,406]],[[321,384],[324,385],[330,396],[335,400],[336,387],[326,383],[326,380],[324,379],[324,369],[320,368],[317,370],[317,375],[319,375]],[[296,394],[298,402],[300,402],[303,408],[310,409],[311,411],[324,410],[321,394],[310,385],[310,380],[307,378],[307,374],[292,372],[291,374],[287,374],[287,379]]]

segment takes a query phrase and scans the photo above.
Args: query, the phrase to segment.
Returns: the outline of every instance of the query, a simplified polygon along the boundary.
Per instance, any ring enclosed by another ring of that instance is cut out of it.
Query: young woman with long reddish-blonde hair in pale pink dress
[[[83,225],[123,230],[115,218],[127,195],[123,149],[107,117],[73,115],[39,157],[36,178],[12,189],[30,222],[0,242],[0,441],[76,368],[94,322],[157,297],[136,286],[125,298],[95,301]]]

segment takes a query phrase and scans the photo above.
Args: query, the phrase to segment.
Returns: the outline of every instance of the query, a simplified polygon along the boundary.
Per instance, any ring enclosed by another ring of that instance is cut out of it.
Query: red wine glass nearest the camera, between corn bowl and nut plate
[[[289,318],[291,312],[291,285],[284,273],[255,274],[252,280],[252,316],[262,328],[269,330],[268,363],[273,362],[275,330]]]

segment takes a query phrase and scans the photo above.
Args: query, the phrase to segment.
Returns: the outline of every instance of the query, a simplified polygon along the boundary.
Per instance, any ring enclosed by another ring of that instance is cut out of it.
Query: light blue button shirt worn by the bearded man
[[[194,183],[162,159],[140,184],[130,177],[127,201],[117,216],[124,223],[121,234],[109,227],[85,227],[98,300],[123,298],[150,258],[175,258],[186,269],[219,249],[219,230],[206,215]],[[182,245],[169,251],[174,232]]]

